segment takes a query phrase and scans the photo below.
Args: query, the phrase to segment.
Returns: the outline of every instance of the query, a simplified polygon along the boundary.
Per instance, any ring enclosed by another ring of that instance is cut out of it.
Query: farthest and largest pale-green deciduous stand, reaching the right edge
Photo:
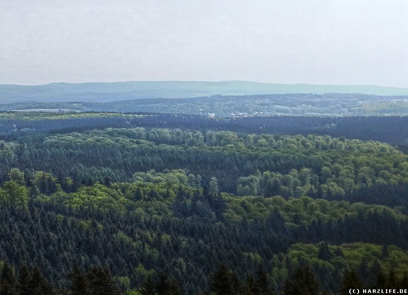
[[[206,133],[205,143],[202,134],[194,135],[189,130],[109,128],[105,131],[49,136],[44,144],[55,148],[106,146],[184,153],[186,138],[195,140],[187,145],[214,155],[218,152],[240,153],[264,159],[265,164],[272,167],[276,164],[270,164],[271,162],[275,163],[292,155],[298,158],[297,161],[304,163],[303,167],[291,169],[286,174],[268,170],[260,173],[257,170],[262,165],[253,167],[249,171],[254,169],[257,174],[241,176],[237,180],[238,195],[298,197],[311,194],[333,198],[344,197],[355,189],[374,184],[408,183],[408,166],[404,163],[406,156],[391,146],[374,141],[362,142],[328,136],[238,136],[232,132],[209,131]]]

